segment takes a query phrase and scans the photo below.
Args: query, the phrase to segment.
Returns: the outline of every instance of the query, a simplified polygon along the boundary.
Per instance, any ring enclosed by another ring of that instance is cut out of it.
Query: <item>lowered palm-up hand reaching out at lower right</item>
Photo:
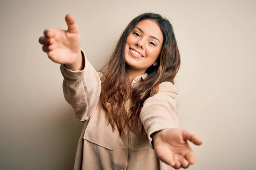
[[[152,137],[158,159],[175,169],[187,168],[195,163],[195,154],[187,141],[202,144],[198,136],[186,129],[164,129],[153,133]]]

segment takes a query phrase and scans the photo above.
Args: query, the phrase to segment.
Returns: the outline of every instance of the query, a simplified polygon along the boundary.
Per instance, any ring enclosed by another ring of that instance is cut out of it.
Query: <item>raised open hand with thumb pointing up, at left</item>
[[[47,28],[44,37],[39,38],[43,51],[53,62],[74,67],[81,65],[81,37],[74,18],[67,14],[65,17],[67,30]]]

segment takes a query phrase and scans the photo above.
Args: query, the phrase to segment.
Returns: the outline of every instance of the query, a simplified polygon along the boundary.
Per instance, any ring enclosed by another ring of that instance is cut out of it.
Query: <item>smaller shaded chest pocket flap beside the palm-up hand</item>
[[[131,150],[145,150],[145,149],[152,149],[149,141],[148,141],[148,135],[147,133],[143,133],[143,135],[140,135],[139,137],[130,131],[130,137],[131,137]]]

